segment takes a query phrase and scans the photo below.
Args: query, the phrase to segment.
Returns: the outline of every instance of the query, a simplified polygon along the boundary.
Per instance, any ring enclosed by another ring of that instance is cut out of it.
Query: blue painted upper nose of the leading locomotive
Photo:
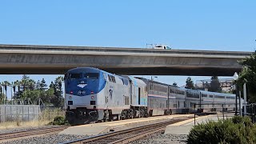
[[[104,79],[104,73],[103,70],[98,70],[95,68],[89,68],[89,67],[80,67],[75,68],[72,70],[68,70],[67,74],[86,74],[86,73],[98,73],[98,79],[94,78],[79,78],[79,79],[70,79],[66,78],[65,85],[66,85],[66,94],[70,94],[70,91],[73,92],[74,95],[78,96],[86,96],[90,95],[91,91],[94,92],[94,94],[98,94],[101,90],[104,89],[106,86],[106,81]],[[82,83],[81,83],[82,82]],[[79,84],[87,84],[84,87],[79,87]],[[84,94],[78,94],[79,90],[84,90]]]

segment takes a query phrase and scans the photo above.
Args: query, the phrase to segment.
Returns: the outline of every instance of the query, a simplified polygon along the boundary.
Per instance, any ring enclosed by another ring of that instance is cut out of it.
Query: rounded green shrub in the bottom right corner
[[[235,116],[194,126],[187,143],[256,143],[255,135],[256,126],[250,122],[250,118]]]

